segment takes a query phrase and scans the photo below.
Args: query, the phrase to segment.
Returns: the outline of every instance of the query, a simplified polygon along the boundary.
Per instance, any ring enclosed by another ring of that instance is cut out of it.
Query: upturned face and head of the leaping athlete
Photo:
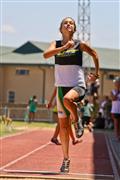
[[[66,18],[62,21],[61,26],[60,26],[60,31],[61,33],[70,33],[73,34],[76,30],[76,25],[73,19],[71,18]]]

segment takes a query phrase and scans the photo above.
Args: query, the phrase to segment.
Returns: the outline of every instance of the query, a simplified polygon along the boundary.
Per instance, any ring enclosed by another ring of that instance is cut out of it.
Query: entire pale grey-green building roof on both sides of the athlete
[[[49,43],[28,41],[18,48],[2,46],[0,64],[54,65],[54,57],[45,60],[43,52]],[[99,56],[100,69],[120,70],[120,49],[94,48]],[[86,56],[86,55],[85,55]],[[83,60],[86,67],[94,67],[89,58]]]

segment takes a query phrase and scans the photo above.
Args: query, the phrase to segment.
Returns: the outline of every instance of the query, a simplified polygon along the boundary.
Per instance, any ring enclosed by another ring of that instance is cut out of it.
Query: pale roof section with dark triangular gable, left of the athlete
[[[28,41],[18,48],[1,47],[0,64],[53,65],[54,58],[49,61],[43,58],[44,50],[49,43]]]

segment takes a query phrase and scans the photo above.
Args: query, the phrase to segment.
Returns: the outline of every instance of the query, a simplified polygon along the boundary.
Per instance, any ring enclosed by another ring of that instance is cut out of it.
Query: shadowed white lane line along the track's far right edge
[[[120,178],[120,176],[118,174],[115,160],[113,158],[112,151],[111,151],[111,146],[109,145],[109,140],[106,135],[105,135],[105,139],[106,139],[107,149],[108,149],[108,153],[109,153],[109,157],[110,157],[110,161],[111,161],[111,165],[112,165],[112,169],[113,169],[114,178],[115,178],[115,180],[118,180]]]

